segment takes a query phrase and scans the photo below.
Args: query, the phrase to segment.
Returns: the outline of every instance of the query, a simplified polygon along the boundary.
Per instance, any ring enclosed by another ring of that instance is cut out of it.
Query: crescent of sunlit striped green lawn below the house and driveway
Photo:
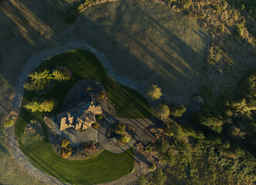
[[[39,170],[72,184],[107,183],[131,173],[134,167],[131,149],[120,154],[105,150],[91,160],[63,160],[44,140],[22,146],[22,150]]]

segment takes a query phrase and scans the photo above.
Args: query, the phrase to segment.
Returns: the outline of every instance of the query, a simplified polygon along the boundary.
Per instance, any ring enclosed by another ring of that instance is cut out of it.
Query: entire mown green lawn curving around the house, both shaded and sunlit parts
[[[115,82],[105,72],[101,62],[92,52],[77,49],[56,55],[43,62],[36,71],[44,69],[56,69],[66,66],[72,71],[72,77],[66,82],[58,82],[43,95],[44,98],[56,99],[58,109],[66,98],[70,89],[81,79],[97,79],[101,81],[108,93],[108,99],[113,104],[119,117],[147,118],[151,117],[151,106],[148,101],[134,89],[122,86]],[[25,91],[22,105],[33,98],[41,98],[36,93]],[[54,114],[50,113],[50,114]],[[15,136],[21,138],[24,129],[31,119],[39,119],[43,123],[43,113],[32,113],[21,109],[15,123]],[[125,153],[114,154],[104,151],[101,155],[90,160],[68,161],[57,156],[53,147],[48,142],[46,125],[43,124],[45,140],[41,140],[31,146],[20,146],[33,165],[44,172],[68,183],[107,183],[124,177],[134,168],[132,150]]]

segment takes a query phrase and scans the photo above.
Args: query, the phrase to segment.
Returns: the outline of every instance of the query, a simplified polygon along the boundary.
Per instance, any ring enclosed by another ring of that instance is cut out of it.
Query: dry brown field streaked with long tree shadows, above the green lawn
[[[166,5],[128,0],[94,5],[69,25],[61,18],[64,1],[3,1],[0,7],[6,28],[0,34],[0,72],[11,84],[31,55],[74,40],[104,52],[119,74],[158,84],[176,104],[188,103],[202,84],[210,36]]]

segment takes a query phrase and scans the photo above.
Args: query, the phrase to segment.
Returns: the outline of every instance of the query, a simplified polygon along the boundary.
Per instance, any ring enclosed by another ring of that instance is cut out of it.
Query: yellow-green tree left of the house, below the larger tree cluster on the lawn
[[[24,106],[26,109],[31,109],[32,112],[50,112],[54,108],[53,100],[45,99],[43,101],[33,100]]]

